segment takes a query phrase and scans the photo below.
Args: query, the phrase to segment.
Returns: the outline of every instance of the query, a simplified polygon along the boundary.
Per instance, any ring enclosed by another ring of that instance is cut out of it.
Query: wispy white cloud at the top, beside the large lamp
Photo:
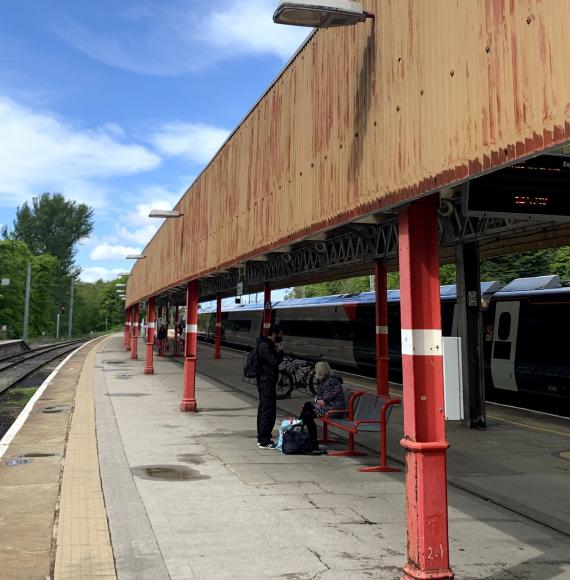
[[[67,19],[57,32],[90,58],[138,74],[175,76],[250,55],[291,56],[308,31],[272,20],[275,0],[139,2],[103,24]]]

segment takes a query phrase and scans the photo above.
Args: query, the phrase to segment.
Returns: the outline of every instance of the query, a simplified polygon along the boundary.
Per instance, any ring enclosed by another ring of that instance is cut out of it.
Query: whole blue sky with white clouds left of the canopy
[[[95,209],[112,279],[307,36],[275,0],[20,0],[0,20],[0,224],[43,192]]]

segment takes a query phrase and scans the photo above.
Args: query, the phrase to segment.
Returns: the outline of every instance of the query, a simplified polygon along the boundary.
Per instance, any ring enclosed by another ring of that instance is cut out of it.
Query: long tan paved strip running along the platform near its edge
[[[55,580],[116,580],[95,435],[93,368],[87,355],[77,384],[61,486]]]

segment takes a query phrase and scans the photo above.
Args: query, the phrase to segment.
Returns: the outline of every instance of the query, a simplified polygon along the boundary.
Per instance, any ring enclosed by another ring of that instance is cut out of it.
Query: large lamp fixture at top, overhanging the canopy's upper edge
[[[358,24],[368,16],[357,0],[281,0],[273,21],[292,26],[332,28]]]

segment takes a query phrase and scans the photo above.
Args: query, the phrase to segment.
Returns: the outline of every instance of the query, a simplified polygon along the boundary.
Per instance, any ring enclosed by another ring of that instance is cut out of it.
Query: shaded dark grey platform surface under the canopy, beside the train
[[[224,350],[221,361],[213,359],[213,347],[199,347],[198,370],[257,395],[256,387],[241,380],[243,354]],[[375,392],[373,382],[365,377],[344,375],[345,386]],[[401,388],[393,385],[393,394]],[[297,414],[304,391],[295,391],[292,399],[279,401],[284,412]],[[543,523],[570,536],[570,420],[547,417],[523,410],[488,405],[487,429],[466,429],[454,422],[446,425],[450,448],[447,454],[449,482],[515,513]],[[403,464],[404,449],[402,407],[394,407],[388,425],[388,452]],[[378,450],[376,435],[359,434],[357,441]]]

